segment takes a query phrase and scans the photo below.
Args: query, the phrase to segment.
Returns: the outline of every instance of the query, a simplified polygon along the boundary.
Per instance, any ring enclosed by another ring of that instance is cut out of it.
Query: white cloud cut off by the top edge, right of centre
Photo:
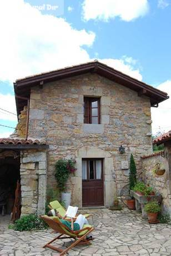
[[[119,17],[123,21],[132,21],[147,14],[149,4],[147,0],[84,0],[83,18],[101,19]]]

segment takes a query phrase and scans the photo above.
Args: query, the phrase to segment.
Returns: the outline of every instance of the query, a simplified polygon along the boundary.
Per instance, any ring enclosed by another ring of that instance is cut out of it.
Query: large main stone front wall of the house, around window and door
[[[101,124],[83,124],[84,96],[100,97]],[[48,186],[56,188],[54,164],[58,159],[79,158],[81,149],[93,147],[103,152],[104,160],[106,154],[112,159],[108,176],[104,178],[113,184],[112,188],[116,185],[119,195],[120,189],[128,183],[130,154],[134,155],[140,171],[140,156],[152,152],[150,101],[92,73],[51,82],[43,88],[36,86],[31,89],[28,135],[46,139],[49,145]],[[120,145],[125,147],[123,155],[118,151]],[[72,203],[79,206],[82,206],[82,194],[78,196],[82,191],[81,175],[79,161],[78,179],[73,178],[69,185],[73,191]],[[112,202],[113,191],[111,193],[111,199],[105,200],[108,205]]]

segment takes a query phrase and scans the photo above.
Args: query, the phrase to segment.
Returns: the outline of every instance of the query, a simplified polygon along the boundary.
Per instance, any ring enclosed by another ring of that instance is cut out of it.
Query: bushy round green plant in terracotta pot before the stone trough
[[[148,222],[149,223],[157,223],[157,215],[161,210],[161,206],[158,204],[157,201],[149,201],[147,204],[145,204],[144,210],[147,213],[148,216]]]

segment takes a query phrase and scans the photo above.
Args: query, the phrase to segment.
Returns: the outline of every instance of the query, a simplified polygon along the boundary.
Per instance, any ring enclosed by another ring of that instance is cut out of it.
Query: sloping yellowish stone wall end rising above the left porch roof
[[[18,124],[16,130],[10,135],[11,138],[26,138],[26,120],[27,120],[27,106],[24,106],[24,109],[21,111],[21,114],[18,116]]]

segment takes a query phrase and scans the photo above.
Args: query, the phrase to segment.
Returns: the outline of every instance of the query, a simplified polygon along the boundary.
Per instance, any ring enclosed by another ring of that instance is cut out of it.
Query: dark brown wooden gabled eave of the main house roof
[[[36,76],[22,78],[14,83],[14,91],[16,95],[22,95],[23,92],[27,92],[29,95],[30,88],[32,86],[40,85],[42,81],[43,83],[47,83],[51,81],[61,80],[67,77],[81,75],[87,72],[98,73],[98,75],[104,76],[109,80],[116,81],[122,84],[123,86],[129,88],[132,87],[132,90],[137,92],[139,92],[142,89],[145,89],[146,93],[144,93],[143,95],[150,98],[151,106],[159,104],[160,102],[167,100],[169,98],[167,93],[160,91],[152,86],[149,86],[146,83],[138,81],[135,78],[125,75],[120,71],[114,70],[114,68],[104,65],[103,63],[100,63],[98,61],[88,62],[77,66],[63,68],[61,70],[51,71]],[[19,101],[21,102],[21,100],[16,99],[18,114],[21,111],[21,108],[19,108],[18,106]]]

